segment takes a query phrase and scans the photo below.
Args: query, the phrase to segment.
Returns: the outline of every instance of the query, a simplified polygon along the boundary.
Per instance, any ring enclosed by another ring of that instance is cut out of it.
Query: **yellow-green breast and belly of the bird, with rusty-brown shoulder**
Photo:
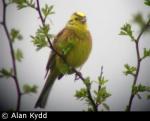
[[[91,52],[92,38],[90,32],[88,30],[65,28],[58,34],[58,38],[54,41],[54,47],[62,54],[70,41],[74,45],[65,55],[65,59],[70,66],[80,67],[86,62]],[[59,56],[56,57],[56,66],[61,73],[66,73],[66,64]]]

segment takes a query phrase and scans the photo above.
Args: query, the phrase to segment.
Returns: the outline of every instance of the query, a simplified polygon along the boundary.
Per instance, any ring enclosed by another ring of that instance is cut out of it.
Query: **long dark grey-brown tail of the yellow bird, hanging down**
[[[40,97],[38,98],[38,100],[35,104],[35,108],[37,108],[37,107],[45,108],[49,93],[51,91],[51,88],[52,88],[56,78],[57,78],[57,71],[55,69],[53,69],[48,74],[46,83],[42,89]]]

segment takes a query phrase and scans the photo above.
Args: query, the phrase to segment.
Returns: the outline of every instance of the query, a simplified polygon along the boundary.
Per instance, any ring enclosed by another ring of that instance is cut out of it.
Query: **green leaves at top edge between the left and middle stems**
[[[32,7],[35,8],[35,2],[33,0],[9,0],[9,3],[17,4],[18,9]]]

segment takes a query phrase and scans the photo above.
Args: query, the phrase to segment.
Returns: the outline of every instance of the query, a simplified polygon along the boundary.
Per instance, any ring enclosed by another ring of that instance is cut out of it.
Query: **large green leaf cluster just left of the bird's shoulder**
[[[49,34],[49,25],[40,26],[35,36],[31,36],[33,44],[37,47],[37,50],[48,46],[47,37],[52,38],[53,35]]]

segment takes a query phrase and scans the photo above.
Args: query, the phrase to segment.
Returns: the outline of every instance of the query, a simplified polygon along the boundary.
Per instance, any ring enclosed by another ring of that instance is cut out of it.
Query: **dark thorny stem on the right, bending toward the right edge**
[[[131,111],[133,98],[135,96],[135,94],[133,93],[133,89],[134,89],[134,87],[137,83],[138,74],[139,74],[139,70],[140,70],[140,65],[141,65],[141,61],[142,61],[142,58],[140,57],[140,52],[139,52],[139,41],[140,41],[141,36],[148,29],[149,26],[150,26],[150,19],[148,20],[146,25],[141,30],[141,32],[138,35],[137,39],[135,40],[136,55],[137,55],[137,70],[136,70],[136,73],[134,75],[134,81],[133,81],[133,84],[132,84],[132,92],[131,92],[131,96],[130,96],[130,99],[129,99],[129,104],[128,104],[128,107],[127,107],[127,111]]]

